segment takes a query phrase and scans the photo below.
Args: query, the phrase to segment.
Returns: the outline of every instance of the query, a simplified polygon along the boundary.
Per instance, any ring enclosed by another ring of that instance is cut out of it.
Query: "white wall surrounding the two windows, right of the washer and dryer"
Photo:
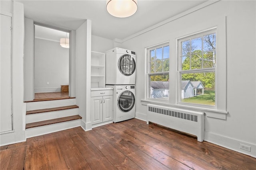
[[[171,61],[175,61],[176,38],[207,29],[204,23],[226,17],[228,115],[226,120],[206,117],[205,140],[256,157],[255,11],[255,1],[219,1],[120,44],[136,51],[136,117],[146,121],[146,106],[140,102],[145,98],[145,47],[170,41]],[[245,84],[248,88],[241,89]],[[240,143],[252,147],[251,152],[239,149]]]

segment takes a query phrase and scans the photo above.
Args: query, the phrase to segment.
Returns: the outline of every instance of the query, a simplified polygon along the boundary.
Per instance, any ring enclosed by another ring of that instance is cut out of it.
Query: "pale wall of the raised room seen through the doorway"
[[[69,84],[69,49],[61,47],[59,42],[38,38],[34,48],[35,92],[60,92],[60,85]]]

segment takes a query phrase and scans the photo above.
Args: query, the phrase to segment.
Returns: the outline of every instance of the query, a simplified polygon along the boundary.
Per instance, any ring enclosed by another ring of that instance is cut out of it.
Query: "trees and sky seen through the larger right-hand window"
[[[216,66],[216,34],[205,35],[182,42],[182,70]],[[182,80],[201,81],[204,88],[214,90],[215,72],[182,74]]]

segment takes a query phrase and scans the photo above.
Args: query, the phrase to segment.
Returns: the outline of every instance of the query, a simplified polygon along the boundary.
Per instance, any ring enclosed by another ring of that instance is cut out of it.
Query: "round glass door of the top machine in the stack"
[[[135,61],[131,55],[122,55],[118,61],[118,68],[125,76],[130,76],[135,71]]]

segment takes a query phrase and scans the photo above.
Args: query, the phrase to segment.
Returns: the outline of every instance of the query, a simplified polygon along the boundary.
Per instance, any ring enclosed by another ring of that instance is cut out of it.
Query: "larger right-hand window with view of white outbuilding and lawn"
[[[216,29],[178,39],[178,103],[215,106]]]

